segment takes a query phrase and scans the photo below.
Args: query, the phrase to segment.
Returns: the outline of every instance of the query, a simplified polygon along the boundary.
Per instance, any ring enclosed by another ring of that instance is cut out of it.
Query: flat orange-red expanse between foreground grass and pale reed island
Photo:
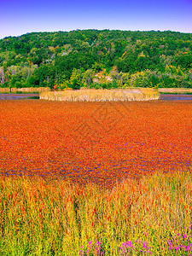
[[[192,102],[0,101],[0,171],[92,181],[192,164]]]

